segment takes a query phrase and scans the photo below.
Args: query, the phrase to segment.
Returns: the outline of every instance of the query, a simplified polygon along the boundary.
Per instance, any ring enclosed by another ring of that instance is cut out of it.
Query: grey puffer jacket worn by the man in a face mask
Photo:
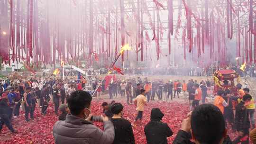
[[[55,144],[112,144],[115,131],[111,121],[104,122],[104,131],[91,122],[68,114],[65,121],[53,127]]]

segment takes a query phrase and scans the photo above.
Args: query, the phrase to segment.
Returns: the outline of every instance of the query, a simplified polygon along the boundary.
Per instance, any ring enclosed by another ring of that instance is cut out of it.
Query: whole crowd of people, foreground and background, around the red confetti
[[[107,89],[110,99],[119,93],[121,98],[127,96],[128,104],[136,106],[137,117],[133,122],[122,116],[125,108],[114,100],[110,104],[102,103],[104,115],[91,115],[92,96],[82,90],[83,84],[82,81],[37,78],[0,81],[0,130],[6,125],[12,133],[17,133],[11,120],[19,117],[20,108],[24,108],[25,120],[29,122],[34,119],[37,106],[41,108],[41,114],[46,115],[52,101],[59,118],[53,128],[56,144],[74,141],[77,144],[135,144],[133,127],[140,124],[146,106],[156,100],[155,95],[157,100],[165,101],[183,96],[189,99],[191,112],[176,134],[174,144],[249,144],[249,138],[256,141],[254,99],[250,90],[239,83],[238,95],[230,90],[218,90],[213,104],[204,104],[207,90],[211,87],[209,80],[199,83],[169,80],[165,83],[146,78],[142,81],[138,77],[137,81],[118,79],[111,82]],[[115,92],[111,88],[113,85],[116,85]],[[101,90],[107,91],[102,86]],[[147,144],[167,144],[167,137],[174,134],[171,127],[162,122],[164,116],[161,109],[151,109],[150,122],[144,128]],[[103,122],[104,130],[94,126],[93,122]],[[228,124],[233,131],[238,131],[238,137],[233,141],[227,135]]]

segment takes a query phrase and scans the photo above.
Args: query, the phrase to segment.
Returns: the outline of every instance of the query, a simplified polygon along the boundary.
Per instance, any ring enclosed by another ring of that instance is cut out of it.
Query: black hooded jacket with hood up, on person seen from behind
[[[163,117],[159,108],[152,108],[151,121],[144,128],[147,144],[168,144],[167,137],[174,134],[167,124],[161,122]]]

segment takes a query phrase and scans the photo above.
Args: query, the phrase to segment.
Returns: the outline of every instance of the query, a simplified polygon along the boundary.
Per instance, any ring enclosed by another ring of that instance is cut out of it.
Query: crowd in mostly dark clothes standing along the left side
[[[10,121],[19,116],[20,108],[24,108],[27,122],[34,119],[36,106],[41,108],[42,115],[46,115],[51,100],[54,104],[55,114],[58,115],[60,103],[64,104],[66,96],[75,90],[82,90],[81,81],[62,81],[52,78],[49,80],[31,78],[27,81],[22,79],[1,80],[0,129],[5,124],[12,132],[16,132]]]

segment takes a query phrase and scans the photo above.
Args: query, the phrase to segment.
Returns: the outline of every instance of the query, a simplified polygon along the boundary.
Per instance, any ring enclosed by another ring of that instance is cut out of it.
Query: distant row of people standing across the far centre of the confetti
[[[196,80],[193,81],[192,79],[188,82],[179,80],[169,80],[168,82],[164,82],[164,80],[148,81],[147,78],[145,78],[143,81],[140,77],[138,77],[137,80],[133,78],[127,79],[126,81],[122,81],[121,79],[113,81],[109,84],[108,92],[110,99],[117,98],[118,94],[120,94],[121,97],[125,97],[126,93],[128,104],[132,104],[132,99],[136,98],[140,94],[141,89],[144,89],[146,90],[145,95],[147,97],[147,102],[150,100],[154,101],[156,99],[168,101],[169,99],[173,100],[173,98],[176,98],[176,96],[177,98],[180,98],[180,95],[182,95],[183,98],[189,96],[190,105],[192,105],[192,101],[195,99],[195,94],[192,93],[195,93],[196,89],[200,88],[198,90],[201,90],[202,103],[205,103],[207,90],[211,86],[212,81],[210,80],[201,81],[200,83],[198,83]],[[195,100],[194,104],[197,103]]]

